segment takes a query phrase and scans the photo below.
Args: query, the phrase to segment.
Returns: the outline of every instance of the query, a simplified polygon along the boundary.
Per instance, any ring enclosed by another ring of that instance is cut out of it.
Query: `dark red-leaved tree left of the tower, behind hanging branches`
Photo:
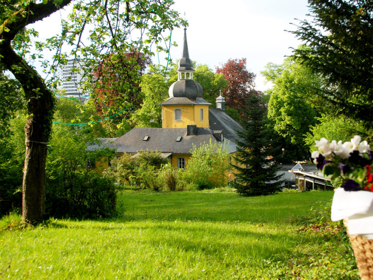
[[[152,62],[149,55],[135,51],[119,55],[110,54],[96,67],[93,94],[88,102],[96,108],[100,119],[127,109],[102,122],[108,137],[118,137],[130,129],[130,124],[123,115],[128,115],[129,108],[132,111],[140,107],[143,101],[140,77]]]

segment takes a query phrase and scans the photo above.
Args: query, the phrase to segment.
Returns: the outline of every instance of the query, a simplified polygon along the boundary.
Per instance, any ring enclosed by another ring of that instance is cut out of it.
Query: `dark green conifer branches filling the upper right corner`
[[[373,119],[373,0],[308,0],[311,22],[292,31],[306,48],[293,57],[325,77],[318,94],[338,115]]]

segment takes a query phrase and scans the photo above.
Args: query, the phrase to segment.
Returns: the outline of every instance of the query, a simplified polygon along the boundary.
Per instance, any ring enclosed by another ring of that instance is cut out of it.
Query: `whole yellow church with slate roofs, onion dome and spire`
[[[162,106],[162,128],[135,127],[118,138],[101,139],[101,142],[134,156],[141,151],[158,151],[170,159],[172,166],[184,168],[191,157],[193,145],[227,142],[230,154],[236,152],[236,131],[242,127],[225,113],[225,101],[216,99],[216,108],[203,99],[203,88],[193,80],[193,62],[189,58],[184,31],[183,55],[178,63],[178,80],[169,88],[169,98]],[[93,145],[95,146],[95,145]],[[94,148],[90,146],[89,148]]]

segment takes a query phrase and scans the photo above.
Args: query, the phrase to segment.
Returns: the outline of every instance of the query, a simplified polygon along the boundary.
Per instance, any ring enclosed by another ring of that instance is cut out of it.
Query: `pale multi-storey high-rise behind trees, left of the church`
[[[75,70],[73,71],[73,69]],[[58,68],[57,75],[61,82],[59,89],[64,89],[66,96],[79,97],[83,102],[89,99],[89,94],[84,93],[81,88],[81,83],[85,78],[80,59],[69,59],[66,65]]]

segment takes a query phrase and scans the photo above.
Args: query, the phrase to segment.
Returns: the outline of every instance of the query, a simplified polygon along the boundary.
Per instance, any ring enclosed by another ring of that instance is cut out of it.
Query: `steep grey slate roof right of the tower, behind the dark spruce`
[[[237,131],[241,131],[242,126],[228,116],[224,111],[216,108],[209,108],[208,122],[211,130],[222,130],[224,138],[233,143],[236,143],[236,140],[239,140]]]

